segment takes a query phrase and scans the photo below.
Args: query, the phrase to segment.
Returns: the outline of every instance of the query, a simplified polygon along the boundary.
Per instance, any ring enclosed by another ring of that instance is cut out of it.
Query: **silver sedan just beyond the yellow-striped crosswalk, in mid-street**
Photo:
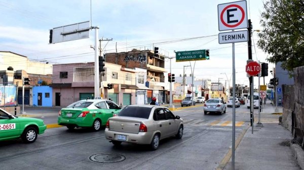
[[[208,99],[204,104],[204,114],[207,112],[220,112],[222,115],[226,113],[226,103],[221,98],[211,98]]]

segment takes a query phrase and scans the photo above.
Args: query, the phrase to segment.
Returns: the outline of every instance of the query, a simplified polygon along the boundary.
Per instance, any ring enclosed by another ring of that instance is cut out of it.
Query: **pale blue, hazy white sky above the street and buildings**
[[[12,51],[28,57],[31,61],[50,64],[94,62],[94,35],[90,38],[49,44],[49,30],[91,21],[99,27],[98,39],[102,41],[103,53],[136,49],[160,48],[160,53],[171,60],[171,73],[179,76],[194,72],[198,79],[212,82],[230,82],[232,86],[232,44],[219,44],[219,4],[236,1],[169,1],[169,0],[0,0],[0,50]],[[253,30],[262,30],[261,0],[247,1],[247,16]],[[241,29],[244,30],[244,29]],[[237,31],[237,30],[236,30]],[[228,31],[225,31],[228,32]],[[256,45],[257,32],[253,31],[252,59],[265,62],[265,54]],[[175,62],[174,51],[210,49],[210,60]],[[245,72],[248,60],[247,42],[235,43],[236,84],[249,85]],[[191,67],[184,67],[191,65]],[[274,67],[269,63],[269,71]],[[170,60],[165,68],[170,71]],[[271,74],[265,77],[269,83]],[[255,78],[255,87],[258,79]],[[261,78],[261,84],[263,83]]]

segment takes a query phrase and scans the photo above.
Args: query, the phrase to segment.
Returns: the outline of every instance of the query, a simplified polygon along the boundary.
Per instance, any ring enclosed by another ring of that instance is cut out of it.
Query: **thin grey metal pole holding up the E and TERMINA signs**
[[[234,31],[234,30],[232,30]],[[232,43],[232,169],[235,169],[235,140],[236,140],[236,69],[235,69],[235,44]]]

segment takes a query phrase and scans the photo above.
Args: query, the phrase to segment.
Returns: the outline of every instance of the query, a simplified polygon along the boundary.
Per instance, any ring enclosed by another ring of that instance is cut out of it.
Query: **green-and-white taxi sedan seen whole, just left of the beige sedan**
[[[111,100],[80,100],[60,110],[58,125],[68,129],[91,127],[94,131],[99,131],[109,118],[117,116],[120,111],[121,107]]]

